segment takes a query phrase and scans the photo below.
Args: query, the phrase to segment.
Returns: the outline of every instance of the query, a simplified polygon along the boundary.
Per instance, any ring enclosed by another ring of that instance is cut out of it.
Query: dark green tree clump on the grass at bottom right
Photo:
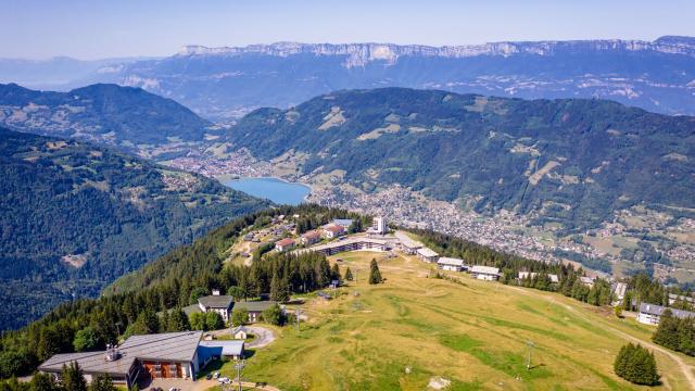
[[[620,349],[614,363],[616,375],[635,384],[656,386],[659,374],[654,353],[640,344],[628,343]]]

